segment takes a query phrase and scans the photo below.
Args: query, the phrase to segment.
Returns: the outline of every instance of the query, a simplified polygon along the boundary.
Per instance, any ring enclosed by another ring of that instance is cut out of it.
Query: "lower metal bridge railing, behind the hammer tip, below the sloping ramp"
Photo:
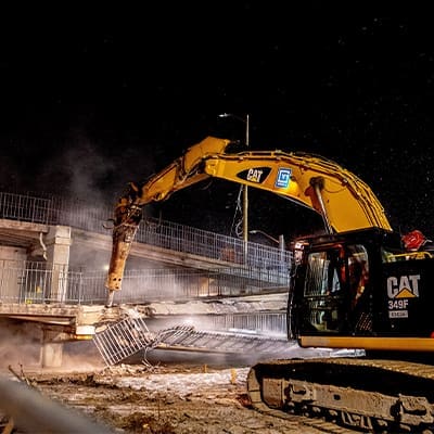
[[[0,260],[0,302],[104,304],[106,275],[42,261]],[[237,297],[288,292],[289,273],[254,268],[127,270],[118,304]]]

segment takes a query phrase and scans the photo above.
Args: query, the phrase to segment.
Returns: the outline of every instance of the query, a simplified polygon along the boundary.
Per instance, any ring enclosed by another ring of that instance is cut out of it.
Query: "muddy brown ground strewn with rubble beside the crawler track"
[[[122,365],[85,372],[26,374],[51,400],[78,409],[118,433],[323,433],[302,418],[265,416],[250,407],[248,368]]]

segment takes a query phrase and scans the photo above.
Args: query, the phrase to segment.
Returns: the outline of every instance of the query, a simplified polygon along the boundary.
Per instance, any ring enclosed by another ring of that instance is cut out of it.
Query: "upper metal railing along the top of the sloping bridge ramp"
[[[111,235],[104,224],[112,216],[113,208],[78,199],[0,192],[0,218],[71,226]],[[288,251],[252,242],[245,248],[243,240],[153,217],[141,222],[136,241],[267,270],[284,272],[291,266]]]

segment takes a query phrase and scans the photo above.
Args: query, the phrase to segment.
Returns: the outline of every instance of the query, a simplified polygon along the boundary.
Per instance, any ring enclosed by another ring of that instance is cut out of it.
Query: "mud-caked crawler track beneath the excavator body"
[[[434,433],[434,367],[357,358],[270,360],[251,368],[252,406],[369,433]],[[330,431],[350,432],[350,431]]]

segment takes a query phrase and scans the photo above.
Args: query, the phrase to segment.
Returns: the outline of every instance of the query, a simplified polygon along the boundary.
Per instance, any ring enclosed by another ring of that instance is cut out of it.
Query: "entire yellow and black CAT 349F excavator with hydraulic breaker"
[[[228,152],[207,137],[114,213],[107,305],[122,289],[144,205],[208,178],[307,206],[323,233],[295,240],[288,336],[302,347],[365,349],[360,358],[269,360],[250,369],[256,410],[302,413],[362,432],[434,433],[434,258],[420,232],[395,232],[371,189],[339,164],[301,152]]]

